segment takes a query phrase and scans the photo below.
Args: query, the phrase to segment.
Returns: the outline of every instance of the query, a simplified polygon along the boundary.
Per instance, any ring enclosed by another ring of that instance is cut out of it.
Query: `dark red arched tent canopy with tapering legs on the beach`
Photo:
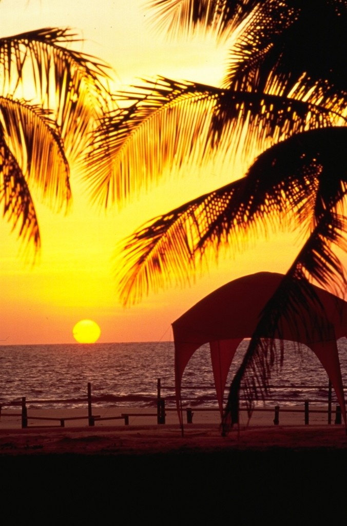
[[[175,386],[177,408],[181,397],[183,372],[193,353],[205,343],[210,344],[213,376],[217,399],[222,414],[223,393],[228,371],[244,338],[250,338],[257,327],[260,314],[283,275],[273,272],[258,272],[230,281],[213,291],[180,318],[172,323],[175,342]],[[347,336],[347,302],[311,286],[324,309],[332,332],[322,332],[323,318],[317,302],[310,308],[297,308],[294,325],[286,319],[280,320],[280,330],[275,338],[304,343],[312,349],[321,361],[330,378],[339,400],[346,422],[345,402],[336,339]],[[269,337],[267,333],[260,335]]]

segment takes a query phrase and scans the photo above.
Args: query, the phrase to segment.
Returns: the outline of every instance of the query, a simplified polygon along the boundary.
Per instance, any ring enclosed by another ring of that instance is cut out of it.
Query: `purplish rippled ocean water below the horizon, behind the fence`
[[[227,386],[246,347],[247,341],[239,346]],[[341,338],[338,347],[347,386],[347,340]],[[166,406],[175,407],[173,342],[0,346],[0,403],[6,408],[24,396],[28,408],[79,408],[85,406],[88,382],[93,406],[155,407],[159,378]],[[304,346],[298,353],[291,342],[285,342],[284,365],[270,383],[274,387],[267,402],[272,406],[328,401],[328,377]],[[196,351],[188,363],[182,402],[217,407],[208,346]]]

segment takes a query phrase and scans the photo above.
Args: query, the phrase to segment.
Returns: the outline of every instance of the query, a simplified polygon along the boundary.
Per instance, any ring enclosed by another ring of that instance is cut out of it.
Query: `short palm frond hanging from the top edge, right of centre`
[[[259,0],[149,0],[146,7],[152,13],[152,24],[162,34],[189,36],[200,30],[213,31],[218,38],[225,38],[259,3]]]

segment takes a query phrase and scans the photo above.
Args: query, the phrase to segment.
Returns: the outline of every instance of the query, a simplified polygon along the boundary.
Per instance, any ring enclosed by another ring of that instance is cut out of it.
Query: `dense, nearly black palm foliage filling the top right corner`
[[[339,51],[347,44],[346,6],[342,4],[264,3],[231,46],[223,87],[297,99],[309,94],[312,104],[323,102],[341,111],[347,95]]]

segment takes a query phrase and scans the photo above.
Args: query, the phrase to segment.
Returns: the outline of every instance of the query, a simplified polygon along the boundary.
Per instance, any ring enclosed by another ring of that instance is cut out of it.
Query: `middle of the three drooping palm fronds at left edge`
[[[49,112],[23,100],[0,97],[0,137],[23,178],[48,198],[52,208],[67,206],[71,196],[69,167],[59,129]]]

